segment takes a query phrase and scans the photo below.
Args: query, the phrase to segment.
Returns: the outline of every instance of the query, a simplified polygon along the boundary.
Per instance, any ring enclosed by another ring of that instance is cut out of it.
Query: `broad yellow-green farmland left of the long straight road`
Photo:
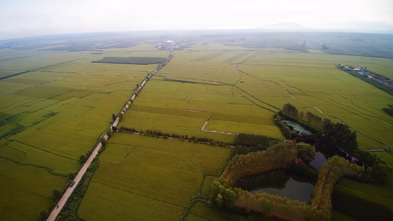
[[[148,56],[153,54],[168,56]],[[54,202],[52,189],[69,184],[68,172],[81,166],[79,155],[94,147],[112,112],[117,113],[136,84],[156,68],[94,65],[91,61],[97,56],[101,55],[1,50],[1,77],[28,71],[0,80],[2,219],[39,220],[40,209]]]

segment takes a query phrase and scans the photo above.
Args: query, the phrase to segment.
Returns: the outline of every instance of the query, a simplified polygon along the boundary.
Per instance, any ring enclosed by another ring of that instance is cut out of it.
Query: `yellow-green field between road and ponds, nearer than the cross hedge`
[[[228,153],[227,147],[114,133],[100,155],[78,216],[179,220],[203,176],[219,175]]]

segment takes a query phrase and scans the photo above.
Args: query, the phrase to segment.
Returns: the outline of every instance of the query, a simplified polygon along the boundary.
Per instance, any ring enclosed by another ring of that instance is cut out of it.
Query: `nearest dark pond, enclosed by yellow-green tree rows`
[[[271,170],[241,178],[235,187],[250,193],[269,193],[309,204],[314,186],[305,178],[285,170]]]

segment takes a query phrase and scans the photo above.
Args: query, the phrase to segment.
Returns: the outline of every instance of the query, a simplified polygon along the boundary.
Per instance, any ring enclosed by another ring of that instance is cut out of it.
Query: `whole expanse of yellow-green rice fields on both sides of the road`
[[[393,148],[393,116],[382,111],[392,97],[335,66],[367,66],[393,76],[391,58],[198,38],[175,50],[145,83],[118,128],[230,143],[239,133],[284,139],[274,115],[290,103],[349,125],[359,146]],[[0,50],[0,220],[38,221],[41,209],[54,208],[52,190],[67,188],[68,173],[82,166],[80,154],[98,143],[112,113],[170,55],[158,49],[162,40],[111,41],[81,51],[62,43]],[[93,62],[108,57],[154,59],[150,64]],[[225,221],[221,212],[193,200],[208,197],[230,150],[115,132],[98,155],[98,168],[74,215],[86,221]],[[390,151],[373,153],[393,165]],[[335,188],[383,205],[393,202],[391,184],[342,179]],[[352,218],[333,210],[332,220]]]

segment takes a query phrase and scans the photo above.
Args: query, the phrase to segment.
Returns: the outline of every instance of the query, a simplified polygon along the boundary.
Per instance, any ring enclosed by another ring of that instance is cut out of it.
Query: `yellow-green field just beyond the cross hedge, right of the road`
[[[273,122],[274,112],[262,109],[242,94],[233,96],[230,86],[150,80],[119,126],[180,135],[233,141],[229,133],[263,134],[283,138]]]

